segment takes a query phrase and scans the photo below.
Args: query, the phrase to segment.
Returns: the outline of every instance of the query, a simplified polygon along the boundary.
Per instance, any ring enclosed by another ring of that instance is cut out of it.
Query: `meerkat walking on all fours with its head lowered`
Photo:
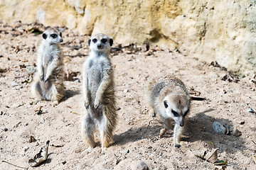
[[[148,89],[149,114],[159,115],[166,128],[171,128],[171,120],[175,121],[174,145],[181,147],[179,137],[181,135],[185,116],[188,114],[191,97],[186,86],[180,79],[167,75],[159,79],[153,79]],[[160,137],[166,132],[166,128],[160,131]]]

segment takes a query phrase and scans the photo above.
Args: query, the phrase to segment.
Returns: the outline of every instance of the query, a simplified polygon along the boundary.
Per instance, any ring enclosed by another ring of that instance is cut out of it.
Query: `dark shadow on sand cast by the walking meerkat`
[[[247,149],[247,147],[244,145],[245,140],[243,140],[242,136],[235,137],[232,134],[218,134],[213,130],[213,122],[215,121],[221,123],[222,125],[228,125],[228,127],[230,127],[229,130],[233,130],[233,128],[235,128],[231,120],[225,118],[214,118],[207,115],[207,113],[213,111],[215,110],[211,108],[188,117],[183,131],[183,135],[185,135],[185,137],[181,137],[181,141],[204,141],[209,145],[213,143],[215,147],[224,148],[226,152],[233,152],[233,148],[238,146],[242,150]]]

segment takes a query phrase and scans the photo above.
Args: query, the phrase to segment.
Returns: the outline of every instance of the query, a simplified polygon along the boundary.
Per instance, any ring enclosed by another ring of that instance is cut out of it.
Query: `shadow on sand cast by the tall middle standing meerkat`
[[[159,136],[163,128],[161,125],[147,125],[139,128],[130,128],[119,135],[114,135],[114,145],[125,145],[129,142],[137,142],[143,139],[154,140]]]

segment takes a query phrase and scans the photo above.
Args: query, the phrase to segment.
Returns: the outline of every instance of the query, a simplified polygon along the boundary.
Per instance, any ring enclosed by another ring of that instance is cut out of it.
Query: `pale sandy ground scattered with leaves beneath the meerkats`
[[[91,153],[82,154],[87,145],[80,137],[80,113],[85,108],[79,79],[89,54],[88,37],[64,30],[65,69],[76,77],[65,81],[65,98],[53,107],[51,101],[33,103],[31,95],[32,77],[26,68],[36,66],[36,48],[42,39],[28,31],[35,27],[43,30],[42,26],[0,23],[1,161],[28,167],[28,159],[50,140],[46,162],[29,169],[131,169],[139,160],[149,169],[256,169],[252,142],[256,142],[256,115],[248,111],[256,109],[255,84],[248,77],[224,81],[228,73],[224,68],[157,47],[146,52],[145,47],[122,45],[121,49],[114,44],[115,142],[103,156],[99,140]],[[149,116],[144,99],[149,80],[169,73],[183,80],[191,92],[207,98],[192,101],[179,149],[173,145],[172,130],[159,138],[163,125],[158,121],[149,124],[158,118]],[[42,113],[36,111],[40,107]],[[237,128],[242,135],[220,135],[212,128],[214,121],[229,125],[230,130]],[[215,166],[194,155],[213,147],[218,148],[219,159],[228,161],[226,166]],[[0,169],[19,168],[0,162]]]

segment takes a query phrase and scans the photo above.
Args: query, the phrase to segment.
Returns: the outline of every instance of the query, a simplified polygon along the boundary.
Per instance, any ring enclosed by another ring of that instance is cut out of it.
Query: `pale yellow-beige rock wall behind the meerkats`
[[[159,45],[208,62],[217,61],[233,72],[254,74],[256,9],[252,1],[156,2],[0,1],[0,20],[38,21],[86,35],[104,32],[119,44]]]

